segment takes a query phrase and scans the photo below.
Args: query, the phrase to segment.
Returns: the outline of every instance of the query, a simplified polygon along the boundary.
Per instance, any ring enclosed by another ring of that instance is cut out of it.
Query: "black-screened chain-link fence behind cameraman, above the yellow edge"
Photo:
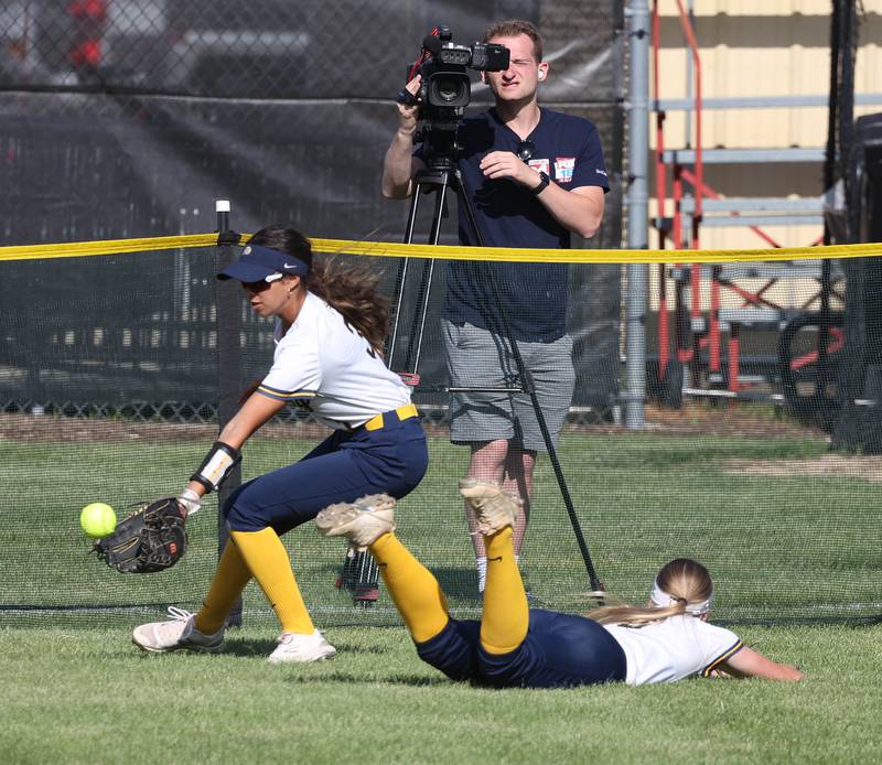
[[[218,197],[233,202],[246,230],[281,220],[313,236],[400,237],[405,211],[377,190],[408,65],[440,22],[471,44],[513,13],[542,28],[552,65],[544,103],[598,125],[620,180],[614,0],[480,10],[349,0],[6,3],[0,172],[9,214],[0,241],[207,230],[207,205]],[[95,61],[77,64],[85,26]],[[486,108],[488,91],[475,72],[472,79],[472,109]],[[621,231],[613,185],[599,243],[607,247]]]

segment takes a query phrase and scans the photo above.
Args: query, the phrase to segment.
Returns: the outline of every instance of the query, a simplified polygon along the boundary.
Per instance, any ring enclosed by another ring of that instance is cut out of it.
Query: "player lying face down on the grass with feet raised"
[[[567,688],[624,681],[639,686],[693,676],[798,680],[799,670],[745,647],[707,622],[707,570],[677,559],[657,574],[652,602],[596,608],[587,616],[529,610],[512,543],[518,504],[497,484],[465,478],[461,493],[487,545],[481,622],[448,614],[434,577],[392,534],[395,499],[368,496],[315,518],[321,534],[367,547],[405,619],[419,657],[452,680],[480,686]]]

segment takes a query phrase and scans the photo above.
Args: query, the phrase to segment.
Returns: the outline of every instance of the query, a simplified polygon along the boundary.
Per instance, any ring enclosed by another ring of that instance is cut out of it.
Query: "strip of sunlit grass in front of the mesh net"
[[[878,628],[741,632],[807,679],[487,691],[422,665],[401,628],[331,628],[340,655],[305,667],[268,665],[257,628],[217,656],[0,629],[0,745],[8,763],[878,762]]]

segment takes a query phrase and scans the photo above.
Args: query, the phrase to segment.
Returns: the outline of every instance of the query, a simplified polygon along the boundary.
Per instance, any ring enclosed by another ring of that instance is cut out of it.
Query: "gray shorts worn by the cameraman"
[[[520,377],[508,342],[472,324],[443,320],[444,351],[452,388],[517,388]],[[518,342],[533,377],[539,409],[552,443],[567,419],[576,387],[572,338],[552,343]],[[528,394],[451,394],[450,440],[472,443],[504,439],[530,451],[547,451]]]

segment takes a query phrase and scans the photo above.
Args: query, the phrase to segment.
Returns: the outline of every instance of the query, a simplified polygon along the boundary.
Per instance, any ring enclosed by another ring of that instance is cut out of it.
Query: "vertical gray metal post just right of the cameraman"
[[[646,249],[649,240],[648,158],[649,158],[649,3],[631,0],[626,11],[631,63],[628,66],[628,191],[627,241],[631,249]],[[649,292],[649,267],[627,267],[625,295],[625,371],[627,381],[625,427],[644,427],[646,398],[646,308]]]

